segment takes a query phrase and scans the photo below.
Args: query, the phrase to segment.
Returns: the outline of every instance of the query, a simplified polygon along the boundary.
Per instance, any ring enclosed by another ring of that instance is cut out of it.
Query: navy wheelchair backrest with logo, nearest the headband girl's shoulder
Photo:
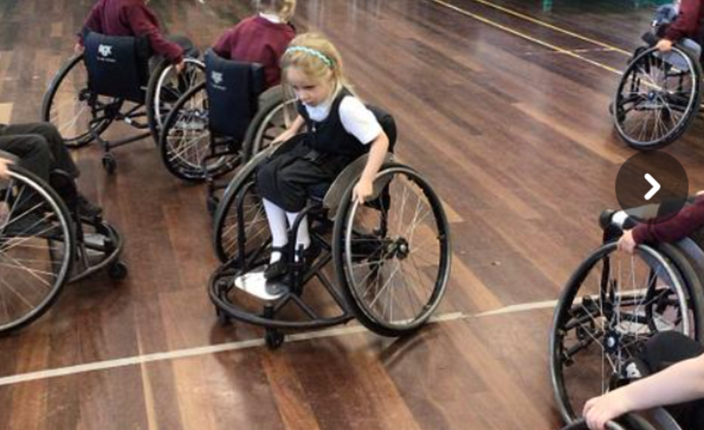
[[[226,60],[212,49],[206,52],[205,63],[210,131],[241,141],[265,89],[264,68]]]

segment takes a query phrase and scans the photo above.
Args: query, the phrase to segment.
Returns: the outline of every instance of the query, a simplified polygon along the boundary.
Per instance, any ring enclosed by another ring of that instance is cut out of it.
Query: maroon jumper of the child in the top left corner
[[[174,64],[183,60],[183,49],[164,38],[156,15],[144,0],[99,0],[84,27],[108,36],[146,36],[157,55]]]

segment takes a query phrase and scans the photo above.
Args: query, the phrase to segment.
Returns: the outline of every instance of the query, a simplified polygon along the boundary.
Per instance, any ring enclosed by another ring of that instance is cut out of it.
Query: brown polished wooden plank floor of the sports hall
[[[39,119],[91,4],[3,0],[0,120]],[[618,168],[634,154],[612,131],[609,69],[624,68],[620,50],[637,45],[652,8],[491,4],[520,15],[476,0],[299,0],[296,16],[299,30],[337,44],[363,99],[394,113],[398,157],[446,203],[454,260],[442,313],[556,298],[598,246],[596,217],[616,206]],[[151,5],[201,48],[249,13],[246,0]],[[702,131],[698,122],[667,148],[691,191],[704,188]],[[213,315],[201,186],[170,177],[148,140],[115,151],[112,177],[99,148],[75,156],[82,189],[125,235],[130,276],[70,285],[48,315],[0,339],[0,378],[260,338]],[[464,318],[403,340],[354,332],[0,385],[0,429],[556,429],[550,320],[550,309]]]

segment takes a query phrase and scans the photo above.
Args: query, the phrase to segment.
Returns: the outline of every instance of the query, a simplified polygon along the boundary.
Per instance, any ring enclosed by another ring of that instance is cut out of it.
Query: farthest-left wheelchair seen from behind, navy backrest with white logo
[[[70,148],[98,141],[105,151],[103,167],[114,172],[111,149],[150,134],[158,143],[173,103],[203,80],[198,50],[190,42],[182,44],[184,70],[179,74],[168,61],[151,56],[144,37],[87,32],[84,53],[71,58],[51,80],[42,103],[43,120],[56,125]],[[116,121],[142,132],[117,141],[103,139]]]

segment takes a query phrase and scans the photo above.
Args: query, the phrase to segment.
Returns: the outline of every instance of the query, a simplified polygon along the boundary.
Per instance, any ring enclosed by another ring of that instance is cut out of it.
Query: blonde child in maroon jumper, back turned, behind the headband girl
[[[296,9],[296,0],[255,1],[258,15],[245,18],[222,34],[213,51],[235,61],[264,66],[266,87],[281,83],[279,60],[291,40],[296,37],[289,25]]]

